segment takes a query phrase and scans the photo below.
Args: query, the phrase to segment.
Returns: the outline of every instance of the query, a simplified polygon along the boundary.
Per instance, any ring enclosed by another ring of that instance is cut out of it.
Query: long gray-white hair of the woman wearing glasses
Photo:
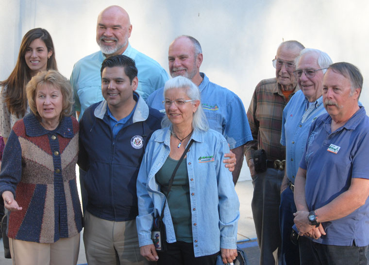
[[[201,100],[200,100],[200,90],[199,88],[188,78],[183,76],[177,76],[172,79],[169,79],[164,86],[164,98],[165,94],[169,89],[183,89],[186,93],[186,95],[191,100],[199,100],[200,105],[197,108],[196,112],[193,114],[192,117],[192,128],[194,130],[201,130],[201,131],[207,131],[209,129],[209,124],[207,122],[205,113],[201,107]],[[190,102],[191,104],[195,104],[194,101]],[[171,127],[172,124],[168,119],[168,116],[165,115],[162,120],[162,128],[165,127]]]

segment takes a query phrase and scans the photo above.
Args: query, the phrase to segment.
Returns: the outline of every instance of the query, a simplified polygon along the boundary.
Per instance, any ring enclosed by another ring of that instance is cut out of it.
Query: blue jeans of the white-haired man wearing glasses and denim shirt
[[[293,226],[293,213],[296,212],[292,190],[287,187],[281,194],[279,206],[279,226],[282,236],[281,261],[282,265],[299,265],[299,246],[292,244],[291,231]]]

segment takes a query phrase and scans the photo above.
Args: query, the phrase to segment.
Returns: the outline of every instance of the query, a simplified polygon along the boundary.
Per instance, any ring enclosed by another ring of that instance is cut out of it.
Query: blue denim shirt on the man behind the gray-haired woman
[[[242,100],[231,90],[223,88],[203,78],[199,89],[201,92],[201,106],[209,122],[209,127],[221,133],[231,149],[252,141],[249,122]],[[146,100],[147,105],[165,113],[164,88],[154,91]]]

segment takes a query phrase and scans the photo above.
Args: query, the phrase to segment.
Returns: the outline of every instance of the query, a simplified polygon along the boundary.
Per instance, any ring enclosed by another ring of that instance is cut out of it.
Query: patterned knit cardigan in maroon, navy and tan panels
[[[23,209],[10,213],[8,237],[53,243],[82,230],[78,129],[74,117],[65,117],[48,131],[33,113],[13,126],[1,165],[0,194],[12,192]]]

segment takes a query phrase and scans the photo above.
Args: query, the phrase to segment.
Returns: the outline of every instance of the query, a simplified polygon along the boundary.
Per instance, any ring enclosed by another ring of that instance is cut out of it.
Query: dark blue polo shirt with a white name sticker
[[[352,177],[369,179],[369,117],[364,107],[334,132],[331,132],[331,122],[332,118],[323,114],[311,125],[300,163],[300,167],[307,170],[305,199],[309,211],[347,191]],[[327,234],[313,241],[325,245],[368,246],[368,224],[369,198],[351,214],[322,223]]]

